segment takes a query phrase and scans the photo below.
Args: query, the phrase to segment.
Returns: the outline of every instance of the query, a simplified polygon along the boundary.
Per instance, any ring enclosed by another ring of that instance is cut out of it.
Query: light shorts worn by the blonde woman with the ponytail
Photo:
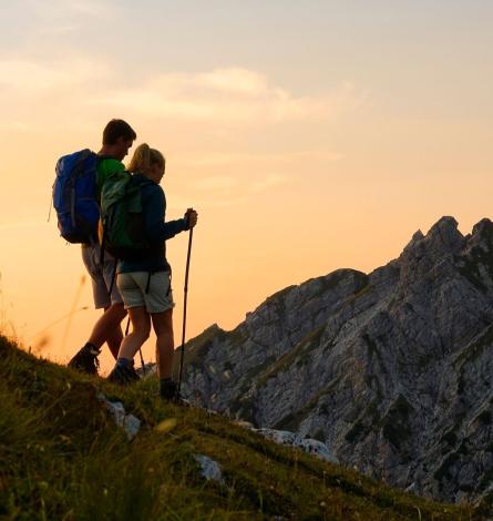
[[[125,309],[145,307],[147,313],[164,313],[175,306],[171,290],[170,272],[119,273],[116,284],[123,297]],[[148,285],[148,292],[147,289]]]

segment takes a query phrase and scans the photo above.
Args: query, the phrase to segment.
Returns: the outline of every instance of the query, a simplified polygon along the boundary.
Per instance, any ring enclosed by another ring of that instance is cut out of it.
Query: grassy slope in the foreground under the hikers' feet
[[[0,359],[0,519],[484,519],[162,403],[152,378],[122,390],[3,337]],[[101,390],[144,420],[132,442],[102,409]],[[196,453],[219,462],[228,488],[199,477]]]

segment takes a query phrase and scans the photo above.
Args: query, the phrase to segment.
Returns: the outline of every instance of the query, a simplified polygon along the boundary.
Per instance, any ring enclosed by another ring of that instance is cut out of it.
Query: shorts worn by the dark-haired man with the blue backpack
[[[92,295],[94,298],[94,307],[96,309],[110,307],[112,304],[121,304],[123,302],[116,287],[116,278],[110,295],[110,286],[115,276],[115,259],[107,252],[104,252],[103,265],[101,265],[101,247],[99,244],[82,245],[82,260],[91,276]]]

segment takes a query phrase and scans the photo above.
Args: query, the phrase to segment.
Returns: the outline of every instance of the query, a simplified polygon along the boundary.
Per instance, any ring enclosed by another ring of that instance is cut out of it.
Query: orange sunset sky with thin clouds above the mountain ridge
[[[97,151],[111,118],[164,152],[168,218],[199,213],[189,336],[372,270],[442,215],[469,233],[493,207],[492,22],[479,0],[1,2],[3,330],[61,362],[86,340],[80,247],[47,217],[57,159]]]

